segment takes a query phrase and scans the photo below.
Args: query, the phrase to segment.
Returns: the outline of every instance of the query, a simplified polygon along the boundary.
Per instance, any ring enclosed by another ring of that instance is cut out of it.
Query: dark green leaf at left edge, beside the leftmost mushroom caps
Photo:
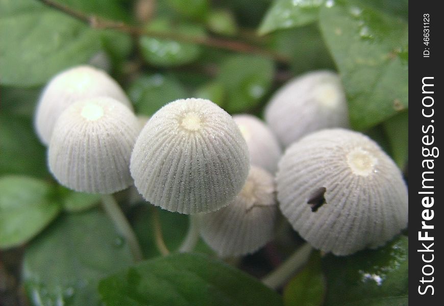
[[[48,177],[45,153],[34,134],[31,118],[0,114],[0,175]]]

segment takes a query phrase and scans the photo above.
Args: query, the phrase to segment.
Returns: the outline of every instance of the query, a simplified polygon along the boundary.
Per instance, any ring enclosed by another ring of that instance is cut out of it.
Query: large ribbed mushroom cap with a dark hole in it
[[[285,151],[276,181],[284,216],[325,252],[376,248],[407,226],[402,174],[361,133],[331,129],[302,138]]]

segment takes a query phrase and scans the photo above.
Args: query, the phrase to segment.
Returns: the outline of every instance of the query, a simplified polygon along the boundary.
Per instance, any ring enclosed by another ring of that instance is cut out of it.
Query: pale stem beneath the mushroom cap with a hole
[[[294,272],[307,262],[312,249],[312,246],[308,243],[302,245],[276,270],[262,278],[262,283],[272,289],[282,287]]]

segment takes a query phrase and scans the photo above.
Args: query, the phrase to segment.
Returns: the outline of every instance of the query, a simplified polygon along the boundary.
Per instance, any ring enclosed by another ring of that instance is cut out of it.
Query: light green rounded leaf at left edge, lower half
[[[50,184],[27,176],[0,177],[0,248],[29,241],[59,212]]]

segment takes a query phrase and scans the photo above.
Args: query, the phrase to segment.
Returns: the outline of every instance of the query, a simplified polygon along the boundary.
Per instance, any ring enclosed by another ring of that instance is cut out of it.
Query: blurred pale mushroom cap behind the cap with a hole
[[[290,80],[270,99],[265,122],[288,146],[304,135],[329,127],[348,127],[348,110],[339,76],[314,71]]]

